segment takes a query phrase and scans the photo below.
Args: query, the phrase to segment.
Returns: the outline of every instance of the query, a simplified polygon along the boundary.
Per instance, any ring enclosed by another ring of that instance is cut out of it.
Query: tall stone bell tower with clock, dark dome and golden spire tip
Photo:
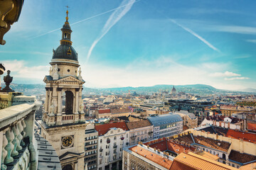
[[[78,53],[72,47],[68,10],[60,46],[53,50],[46,83],[41,135],[53,145],[63,169],[84,169],[85,113]]]

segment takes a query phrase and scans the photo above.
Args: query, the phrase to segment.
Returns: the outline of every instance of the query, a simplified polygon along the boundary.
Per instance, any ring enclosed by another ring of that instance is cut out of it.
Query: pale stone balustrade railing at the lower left
[[[34,103],[0,110],[1,169],[37,169],[33,137],[35,110]]]

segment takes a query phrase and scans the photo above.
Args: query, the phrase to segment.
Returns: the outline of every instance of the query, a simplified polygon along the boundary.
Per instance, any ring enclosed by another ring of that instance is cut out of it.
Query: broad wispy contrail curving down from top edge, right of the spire
[[[92,45],[90,47],[90,50],[87,54],[86,63],[88,62],[90,55],[92,54],[92,50],[97,45],[97,42],[99,42],[103,36],[116,24],[131,8],[132,5],[135,3],[135,0],[124,0],[120,4],[118,8],[111,14],[110,18],[108,18],[107,22],[105,23],[105,26],[102,28],[100,35],[96,38],[94,42],[92,42]],[[124,8],[120,8],[124,7]]]

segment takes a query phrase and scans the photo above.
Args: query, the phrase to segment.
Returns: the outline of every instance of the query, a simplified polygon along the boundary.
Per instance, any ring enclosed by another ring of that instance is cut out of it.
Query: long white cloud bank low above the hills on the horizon
[[[218,66],[220,73],[225,74],[223,68],[227,64],[223,63],[203,63],[193,66],[186,66],[176,62],[177,56],[162,56],[155,60],[138,58],[129,62],[126,66],[118,67],[106,63],[80,62],[82,67],[82,77],[85,79],[87,87],[117,87],[117,86],[154,86],[156,84],[208,84],[218,89],[245,89],[247,87],[256,88],[254,82],[245,82],[247,77],[230,77],[225,80],[240,79],[239,84],[233,84],[232,81],[223,81],[222,77],[209,77],[213,72],[210,65]],[[48,66],[29,67],[23,60],[3,61],[6,70],[11,70],[11,76],[14,77],[14,83],[43,84],[43,77],[48,74]],[[222,68],[222,69],[221,69]],[[6,73],[4,74],[6,75]],[[225,75],[235,73],[228,72]],[[2,78],[2,77],[1,77]],[[221,79],[220,79],[221,78]],[[3,81],[2,81],[3,82]]]

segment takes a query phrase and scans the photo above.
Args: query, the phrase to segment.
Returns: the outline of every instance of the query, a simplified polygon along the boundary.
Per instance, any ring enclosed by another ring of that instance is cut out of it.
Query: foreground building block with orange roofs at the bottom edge
[[[213,154],[196,152],[196,148],[191,145],[167,138],[154,140],[152,144],[139,142],[139,145],[124,148],[122,169],[236,169],[233,166],[217,162],[218,157]]]

